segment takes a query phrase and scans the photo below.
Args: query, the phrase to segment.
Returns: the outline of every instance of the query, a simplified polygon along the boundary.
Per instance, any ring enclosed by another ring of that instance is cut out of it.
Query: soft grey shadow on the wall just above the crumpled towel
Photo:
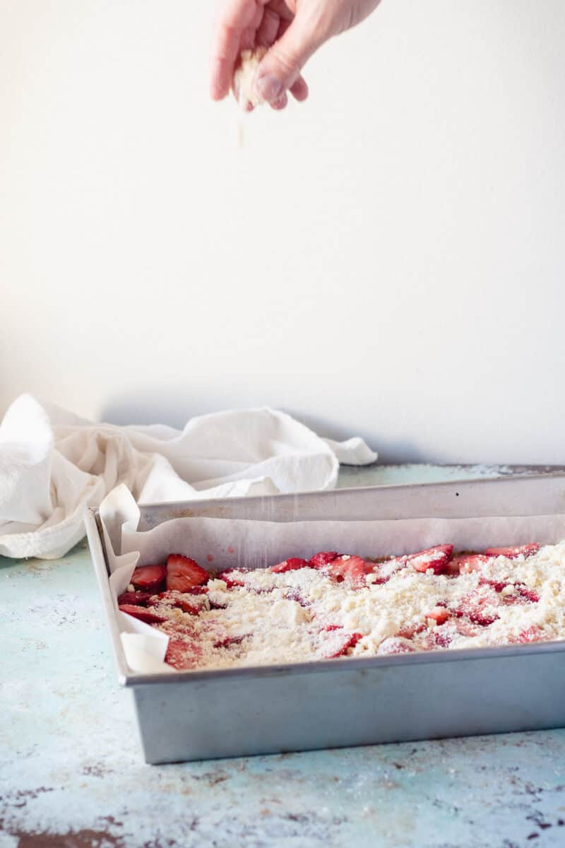
[[[220,395],[224,396],[224,403],[219,399]],[[270,400],[272,401],[272,399]],[[269,404],[260,399],[255,399],[254,403],[237,403],[232,394],[224,394],[221,388],[218,392],[208,394],[207,397],[202,397],[201,394],[198,401],[188,399],[186,393],[180,389],[174,391],[173,389],[163,390],[163,388],[158,388],[136,392],[131,396],[122,393],[119,397],[110,399],[102,407],[100,420],[120,426],[126,424],[168,424],[169,427],[182,429],[186,422],[194,416],[207,415],[210,412],[219,412],[226,409],[241,410],[268,405],[288,413],[297,421],[302,421],[302,424],[325,438],[343,441],[351,436],[361,436],[369,447],[378,452],[379,462],[429,461],[429,457],[424,455],[418,445],[405,439],[391,438],[385,434],[379,434],[375,438],[374,433],[360,431],[355,428],[354,424],[352,427],[346,427],[341,425],[339,421],[317,416],[312,410],[301,407],[289,407],[285,404],[273,402]]]

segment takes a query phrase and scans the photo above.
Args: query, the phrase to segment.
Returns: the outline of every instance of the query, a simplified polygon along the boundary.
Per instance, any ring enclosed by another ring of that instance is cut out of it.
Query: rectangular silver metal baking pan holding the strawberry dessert
[[[145,505],[139,528],[180,516],[337,521],[559,512],[565,512],[562,473]],[[565,641],[224,671],[133,673],[119,639],[97,510],[87,516],[86,532],[119,681],[133,690],[147,762],[565,725]]]

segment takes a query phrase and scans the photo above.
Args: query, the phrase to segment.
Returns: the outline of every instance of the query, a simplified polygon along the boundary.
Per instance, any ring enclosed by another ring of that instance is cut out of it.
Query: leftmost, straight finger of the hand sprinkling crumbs
[[[235,62],[241,52],[241,36],[253,28],[254,19],[259,24],[262,9],[254,0],[226,0],[219,5],[219,14],[213,34],[210,63],[210,95],[222,100],[230,91]]]

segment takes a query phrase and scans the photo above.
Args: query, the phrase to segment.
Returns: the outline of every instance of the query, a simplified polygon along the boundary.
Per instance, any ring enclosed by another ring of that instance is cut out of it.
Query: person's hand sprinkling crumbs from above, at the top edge
[[[287,91],[305,100],[301,70],[332,36],[360,23],[380,0],[221,0],[213,36],[210,92],[230,91],[242,50],[267,47],[255,87],[274,109],[284,109]]]

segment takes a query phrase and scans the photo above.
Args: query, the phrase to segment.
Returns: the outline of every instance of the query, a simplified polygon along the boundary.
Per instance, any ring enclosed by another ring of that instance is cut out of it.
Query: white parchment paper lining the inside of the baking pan
[[[565,538],[563,515],[363,522],[177,518],[141,533],[136,529],[139,509],[123,486],[102,501],[100,516],[125,658],[132,671],[143,673],[174,673],[163,662],[168,638],[119,612],[117,598],[130,583],[137,565],[164,562],[170,553],[191,556],[203,568],[216,571],[243,566],[264,568],[288,556],[307,559],[319,550],[378,557],[407,554],[435,544],[451,543],[456,550],[484,550],[529,542],[554,544]]]

